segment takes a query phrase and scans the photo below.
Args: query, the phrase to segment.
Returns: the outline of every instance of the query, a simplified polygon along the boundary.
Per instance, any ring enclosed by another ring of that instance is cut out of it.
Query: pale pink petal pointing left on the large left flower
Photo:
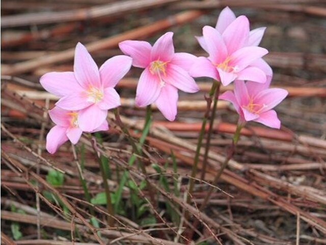
[[[80,88],[72,71],[48,72],[41,77],[40,83],[46,91],[59,97],[74,92],[76,87]]]

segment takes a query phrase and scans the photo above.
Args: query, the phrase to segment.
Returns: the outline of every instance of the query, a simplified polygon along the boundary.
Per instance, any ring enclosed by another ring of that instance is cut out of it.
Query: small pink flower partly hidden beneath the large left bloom
[[[49,116],[56,124],[46,136],[46,150],[49,153],[54,154],[68,139],[73,144],[78,142],[83,130],[79,128],[77,111],[67,111],[56,106],[49,111]],[[108,130],[106,120],[93,132],[102,130]]]

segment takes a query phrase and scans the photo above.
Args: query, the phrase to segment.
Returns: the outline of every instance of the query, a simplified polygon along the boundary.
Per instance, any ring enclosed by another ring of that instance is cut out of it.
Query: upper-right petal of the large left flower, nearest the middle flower
[[[115,87],[130,70],[131,63],[132,59],[125,55],[118,55],[105,61],[99,71],[102,86]]]

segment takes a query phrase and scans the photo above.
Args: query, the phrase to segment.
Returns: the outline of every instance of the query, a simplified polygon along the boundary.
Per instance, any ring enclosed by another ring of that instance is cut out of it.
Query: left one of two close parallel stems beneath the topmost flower
[[[187,203],[188,204],[191,201],[191,194],[192,194],[192,192],[194,190],[194,185],[195,185],[194,178],[196,177],[196,174],[197,174],[200,149],[201,149],[204,134],[205,134],[206,122],[207,122],[209,112],[210,112],[212,97],[213,97],[213,95],[215,93],[215,90],[216,90],[217,86],[218,86],[218,82],[214,81],[213,84],[212,84],[212,87],[211,87],[211,89],[210,89],[210,91],[208,93],[209,97],[205,98],[206,101],[207,101],[207,108],[206,108],[206,112],[205,112],[205,115],[204,115],[204,118],[203,118],[202,128],[200,129],[200,132],[199,132],[199,137],[198,137],[198,142],[197,142],[197,149],[196,149],[194,164],[193,164],[192,173],[191,173],[192,178],[189,179],[189,187],[188,187],[188,195],[187,195]]]

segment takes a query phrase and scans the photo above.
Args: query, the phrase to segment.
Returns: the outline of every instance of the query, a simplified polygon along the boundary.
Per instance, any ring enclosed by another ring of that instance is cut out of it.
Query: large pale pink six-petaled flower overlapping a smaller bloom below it
[[[103,124],[107,110],[120,106],[114,89],[131,67],[132,59],[120,55],[108,59],[98,69],[86,47],[78,43],[73,72],[49,72],[40,79],[42,86],[61,99],[57,106],[79,111],[78,126],[91,132]]]

